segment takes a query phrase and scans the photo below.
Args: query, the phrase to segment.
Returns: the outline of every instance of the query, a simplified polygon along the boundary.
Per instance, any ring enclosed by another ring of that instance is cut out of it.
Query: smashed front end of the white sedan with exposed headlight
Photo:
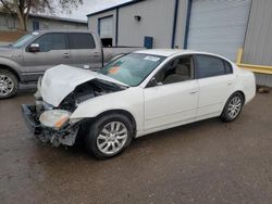
[[[72,146],[82,120],[71,120],[70,111],[55,109],[46,103],[40,95],[40,80],[34,95],[36,104],[22,104],[23,116],[32,133],[40,141],[50,142],[54,146],[60,144]]]

